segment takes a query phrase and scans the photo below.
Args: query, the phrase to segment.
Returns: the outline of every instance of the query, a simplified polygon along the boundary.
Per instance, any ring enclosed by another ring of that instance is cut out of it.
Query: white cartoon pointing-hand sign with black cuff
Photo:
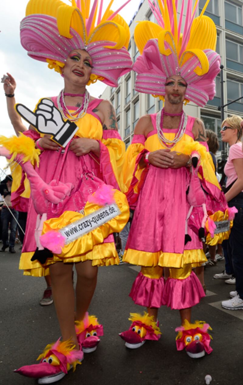
[[[41,134],[49,134],[52,140],[62,147],[67,146],[78,127],[69,120],[64,121],[60,111],[50,99],[40,99],[35,112],[23,104],[16,104],[18,114]]]

